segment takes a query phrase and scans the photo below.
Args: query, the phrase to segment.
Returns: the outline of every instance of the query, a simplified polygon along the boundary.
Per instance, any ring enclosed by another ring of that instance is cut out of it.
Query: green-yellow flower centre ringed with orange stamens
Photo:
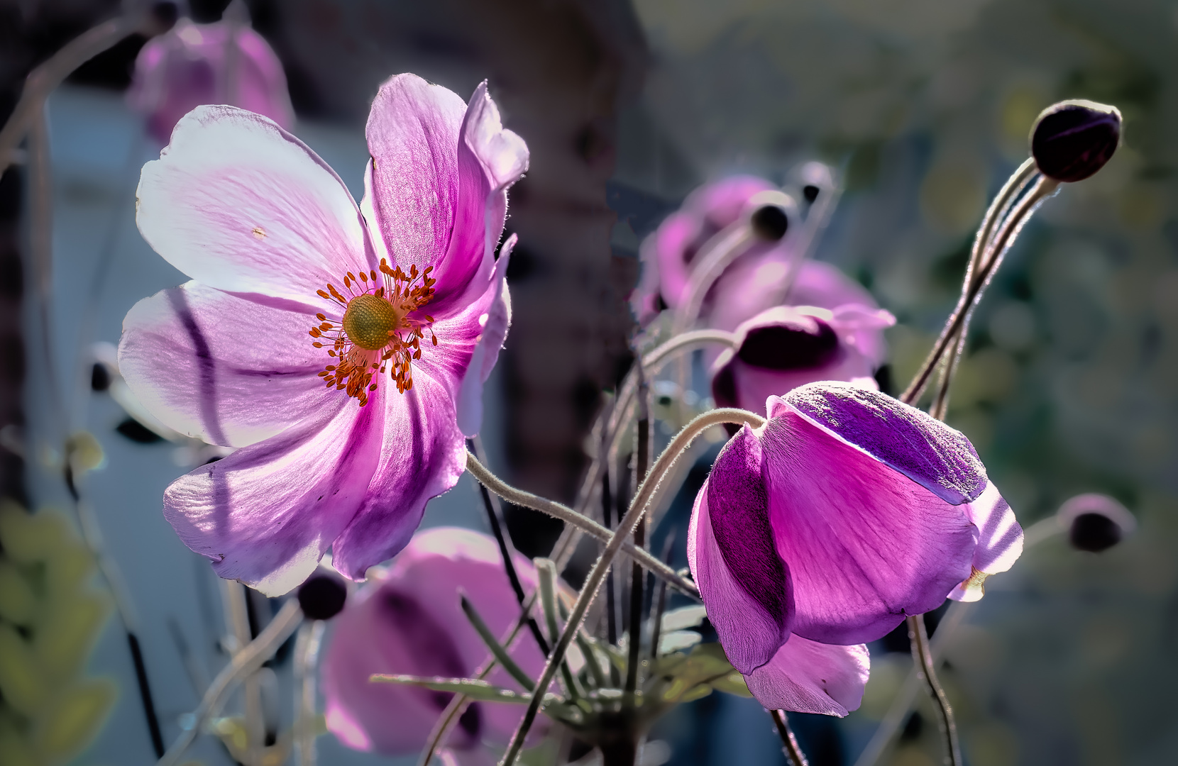
[[[437,280],[430,278],[431,271],[432,266],[423,272],[410,266],[406,274],[382,258],[380,277],[372,271],[360,272],[357,279],[348,272],[344,289],[350,297],[345,298],[335,285],[317,291],[335,305],[337,317],[337,309],[343,309],[338,320],[316,314],[319,324],[311,328],[312,346],[323,348],[326,339],[327,355],[337,360],[319,373],[329,388],[346,391],[363,407],[380,380],[373,378],[377,373],[390,373],[401,393],[413,387],[412,361],[422,358],[425,333],[438,345],[434,318],[419,312],[434,298]]]

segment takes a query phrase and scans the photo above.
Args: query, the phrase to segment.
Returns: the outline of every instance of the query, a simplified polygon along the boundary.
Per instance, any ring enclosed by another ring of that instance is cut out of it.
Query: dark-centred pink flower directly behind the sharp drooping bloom
[[[845,380],[879,388],[875,362],[859,348],[863,331],[895,324],[886,311],[858,304],[835,311],[777,306],[736,328],[736,346],[712,367],[717,407],[740,407],[765,415],[766,400],[816,380]]]

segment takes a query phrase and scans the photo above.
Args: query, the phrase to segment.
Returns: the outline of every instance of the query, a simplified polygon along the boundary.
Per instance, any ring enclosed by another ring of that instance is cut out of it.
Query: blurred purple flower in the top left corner
[[[139,51],[131,107],[147,116],[147,132],[167,142],[180,118],[204,104],[230,104],[294,122],[286,75],[270,45],[249,26],[180,19]]]

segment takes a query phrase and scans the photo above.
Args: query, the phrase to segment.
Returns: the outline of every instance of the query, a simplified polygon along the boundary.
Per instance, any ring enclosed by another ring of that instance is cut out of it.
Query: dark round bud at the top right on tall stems
[[[1088,178],[1119,144],[1120,112],[1094,101],[1060,101],[1044,109],[1031,127],[1031,155],[1039,171],[1057,181]]]

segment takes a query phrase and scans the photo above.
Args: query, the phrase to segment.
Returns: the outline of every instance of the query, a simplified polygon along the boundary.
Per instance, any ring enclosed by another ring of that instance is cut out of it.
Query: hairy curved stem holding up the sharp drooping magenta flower
[[[561,633],[560,640],[556,642],[556,646],[552,648],[552,653],[548,657],[548,661],[544,664],[544,671],[541,673],[540,680],[536,681],[537,693],[534,694],[531,700],[528,702],[528,710],[524,713],[523,720],[519,721],[518,728],[516,728],[515,734],[511,735],[511,742],[508,745],[507,753],[503,755],[503,760],[499,761],[501,766],[511,766],[519,757],[519,751],[523,750],[523,741],[528,735],[528,730],[531,728],[532,721],[536,720],[536,713],[540,712],[540,706],[544,700],[544,695],[541,692],[547,690],[551,685],[552,679],[556,677],[556,670],[560,666],[561,660],[564,659],[564,653],[568,651],[569,644],[573,642],[573,638],[576,635],[577,631],[581,630],[581,624],[585,619],[585,612],[589,611],[589,606],[593,604],[594,597],[597,595],[597,590],[601,587],[601,582],[605,578],[605,572],[608,572],[609,567],[614,564],[614,559],[622,549],[626,538],[634,532],[634,527],[637,525],[638,519],[642,518],[642,514],[646,513],[647,508],[657,499],[659,488],[662,485],[663,477],[675,464],[675,460],[677,460],[688,446],[690,446],[691,441],[696,437],[712,426],[726,422],[734,422],[736,425],[749,424],[753,427],[759,428],[765,425],[765,419],[744,409],[723,408],[706,412],[691,422],[687,424],[682,431],[675,434],[675,438],[670,440],[669,445],[667,445],[667,449],[659,455],[659,460],[655,461],[654,468],[650,469],[650,474],[647,475],[646,480],[638,486],[638,491],[635,493],[634,500],[630,502],[630,507],[626,512],[626,515],[622,517],[622,520],[618,522],[617,529],[609,538],[609,542],[605,544],[605,548],[601,552],[601,557],[598,557],[597,561],[594,562],[593,568],[589,571],[589,575],[585,578],[581,593],[577,595],[577,600],[573,605],[573,610],[569,611],[569,619],[564,625],[564,632]],[[650,554],[647,553],[647,555]],[[662,565],[661,561],[659,564]]]

